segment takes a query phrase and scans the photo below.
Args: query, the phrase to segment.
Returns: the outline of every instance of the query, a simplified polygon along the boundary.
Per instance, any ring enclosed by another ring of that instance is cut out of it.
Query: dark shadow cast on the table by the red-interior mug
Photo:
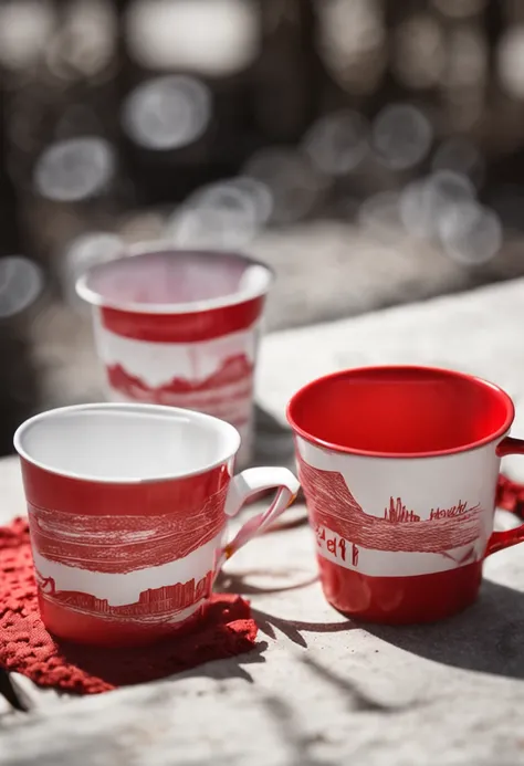
[[[484,580],[478,601],[449,620],[368,632],[427,660],[463,670],[524,679],[524,592]]]

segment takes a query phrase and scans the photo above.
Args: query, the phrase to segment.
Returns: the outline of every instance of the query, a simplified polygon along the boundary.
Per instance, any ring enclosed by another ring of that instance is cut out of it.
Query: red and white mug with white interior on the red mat
[[[51,410],[14,436],[42,619],[62,639],[147,643],[198,619],[222,564],[293,502],[283,468],[233,478],[238,431],[153,405]],[[224,546],[227,520],[263,490],[270,507]]]

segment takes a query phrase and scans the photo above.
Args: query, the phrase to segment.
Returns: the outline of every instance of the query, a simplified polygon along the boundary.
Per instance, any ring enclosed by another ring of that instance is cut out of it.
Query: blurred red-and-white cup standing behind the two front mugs
[[[273,272],[245,255],[143,246],[93,266],[77,282],[93,306],[111,401],[213,415],[253,449],[253,385]]]

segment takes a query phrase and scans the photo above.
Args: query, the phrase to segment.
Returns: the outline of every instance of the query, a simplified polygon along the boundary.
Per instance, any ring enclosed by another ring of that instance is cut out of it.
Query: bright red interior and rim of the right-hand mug
[[[287,418],[304,439],[378,457],[427,457],[504,436],[513,402],[496,386],[428,367],[345,370],[301,389]]]

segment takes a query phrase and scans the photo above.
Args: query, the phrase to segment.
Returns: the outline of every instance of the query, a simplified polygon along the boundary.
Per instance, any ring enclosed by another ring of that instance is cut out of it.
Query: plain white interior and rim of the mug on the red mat
[[[86,405],[23,423],[14,447],[61,475],[136,482],[201,473],[234,455],[238,431],[199,412],[151,405]]]

